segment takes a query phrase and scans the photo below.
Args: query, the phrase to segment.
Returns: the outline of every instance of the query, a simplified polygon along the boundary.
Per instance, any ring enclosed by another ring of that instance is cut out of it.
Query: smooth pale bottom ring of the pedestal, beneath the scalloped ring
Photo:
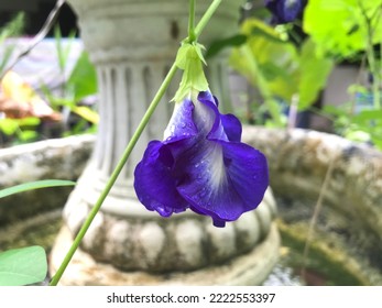
[[[53,249],[50,270],[55,273],[72,244],[70,232],[63,228]],[[279,258],[280,235],[273,222],[266,238],[249,253],[229,262],[189,272],[163,274],[143,271],[122,272],[95,261],[79,250],[67,267],[61,285],[261,285]]]

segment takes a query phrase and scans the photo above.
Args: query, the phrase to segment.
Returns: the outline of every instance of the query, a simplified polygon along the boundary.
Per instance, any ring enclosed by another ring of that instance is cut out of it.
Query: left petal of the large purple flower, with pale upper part
[[[165,131],[165,141],[152,141],[134,170],[134,189],[148,210],[163,217],[184,211],[189,207],[176,187],[186,176],[177,165],[182,153],[195,145],[197,129],[193,121],[194,105],[184,100],[174,110]]]

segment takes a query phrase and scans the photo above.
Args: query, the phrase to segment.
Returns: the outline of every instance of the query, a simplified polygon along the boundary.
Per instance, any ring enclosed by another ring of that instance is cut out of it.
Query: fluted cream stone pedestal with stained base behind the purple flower
[[[64,210],[65,226],[52,253],[51,273],[95,205],[105,183],[174,61],[187,29],[188,1],[70,0],[79,16],[85,47],[97,66],[100,124],[92,157]],[[197,1],[200,16],[210,1]],[[237,31],[239,3],[223,1],[200,37],[205,45]],[[229,97],[226,57],[209,62],[210,88]],[[162,139],[172,113],[168,90],[102,205],[61,283],[261,284],[277,260],[271,190],[259,209],[225,229],[185,212],[170,220],[137,200],[132,175],[150,140]],[[72,270],[70,270],[72,267]]]

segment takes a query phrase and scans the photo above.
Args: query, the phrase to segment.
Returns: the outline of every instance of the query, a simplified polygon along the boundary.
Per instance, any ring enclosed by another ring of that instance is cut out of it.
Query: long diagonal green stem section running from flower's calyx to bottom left
[[[134,148],[139,138],[141,136],[144,128],[146,127],[151,116],[153,114],[156,106],[159,105],[159,102],[161,101],[163,95],[165,94],[167,87],[171,84],[171,80],[173,79],[175,73],[176,73],[176,66],[175,64],[171,67],[170,72],[167,73],[167,76],[165,77],[162,86],[160,87],[159,91],[156,92],[153,101],[151,102],[148,111],[144,113],[143,119],[141,121],[141,123],[139,124],[137,131],[134,132],[134,134],[132,135],[128,146],[125,147],[121,160],[118,162],[114,170],[112,172],[108,183],[106,184],[101,195],[99,196],[97,202],[95,204],[95,206],[92,207],[89,216],[87,217],[86,221],[84,222],[81,229],[79,230],[77,237],[75,238],[69,251],[67,252],[63,263],[61,264],[59,268],[57,270],[57,273],[54,275],[54,277],[52,278],[50,285],[51,286],[56,286],[57,283],[59,282],[61,277],[63,276],[67,265],[69,264],[74,253],[76,252],[76,250],[78,249],[83,238],[85,237],[87,230],[90,227],[90,223],[92,222],[94,218],[96,217],[97,212],[99,211],[101,205],[103,204],[106,197],[109,195],[112,186],[114,185],[119,174],[121,173],[123,166],[125,165],[125,162],[128,161],[132,150]]]

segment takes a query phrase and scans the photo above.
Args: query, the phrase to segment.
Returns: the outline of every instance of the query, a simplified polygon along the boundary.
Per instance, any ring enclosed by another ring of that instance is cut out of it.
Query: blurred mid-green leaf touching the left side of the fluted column
[[[97,92],[96,69],[86,52],[80,54],[67,80],[67,86],[73,89],[76,102]]]

